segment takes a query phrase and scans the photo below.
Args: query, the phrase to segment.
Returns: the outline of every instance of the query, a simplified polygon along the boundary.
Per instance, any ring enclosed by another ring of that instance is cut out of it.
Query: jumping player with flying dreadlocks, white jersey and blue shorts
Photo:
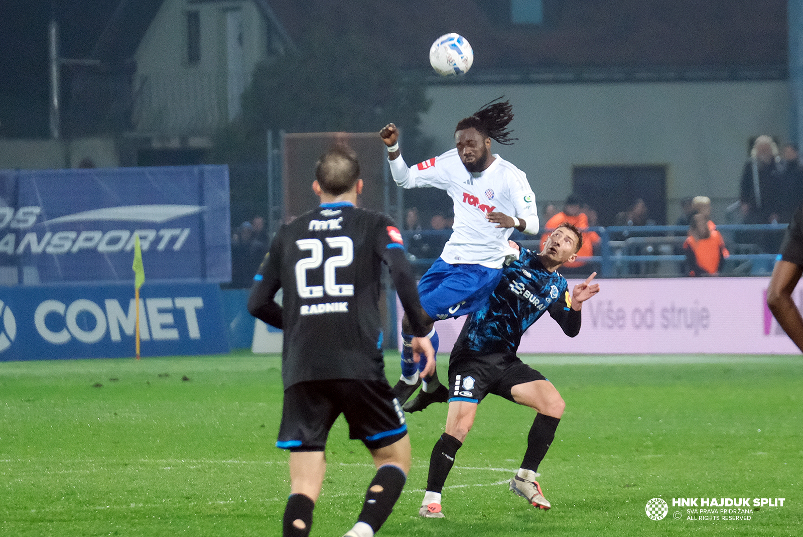
[[[393,181],[406,189],[434,186],[446,190],[454,204],[454,226],[449,242],[437,261],[418,282],[421,306],[430,319],[430,340],[437,352],[434,321],[467,315],[487,303],[502,276],[507,256],[517,257],[507,239],[513,229],[538,233],[535,194],[527,176],[498,154],[491,153],[491,140],[509,145],[507,129],[513,119],[509,101],[492,100],[454,128],[454,145],[439,157],[407,167],[398,145],[398,129],[390,123],[379,132],[388,148]],[[426,317],[425,317],[426,318]],[[421,378],[426,360],[415,364],[410,348],[412,329],[402,320],[402,378],[393,387],[408,412],[444,402],[449,391],[438,374]],[[405,401],[422,384],[413,401]]]

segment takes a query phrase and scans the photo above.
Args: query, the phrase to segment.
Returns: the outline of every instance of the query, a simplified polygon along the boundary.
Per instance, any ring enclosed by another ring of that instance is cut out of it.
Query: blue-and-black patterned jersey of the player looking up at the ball
[[[522,248],[519,260],[504,267],[487,305],[468,316],[452,352],[515,353],[521,336],[544,311],[576,336],[579,325],[577,332],[567,328],[571,305],[566,279],[547,271],[536,254]]]

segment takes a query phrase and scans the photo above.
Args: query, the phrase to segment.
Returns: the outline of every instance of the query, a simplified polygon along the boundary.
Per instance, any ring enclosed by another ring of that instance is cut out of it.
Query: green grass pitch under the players
[[[507,490],[533,411],[491,396],[446,482],[446,519],[417,516],[446,405],[407,416],[413,469],[379,535],[803,535],[800,356],[526,361],[567,403],[540,467],[552,510]],[[395,380],[398,355],[386,363]],[[0,362],[0,535],[281,535],[281,397],[279,358],[251,352]],[[342,420],[327,457],[312,535],[339,537],[374,470]],[[660,521],[645,513],[655,497],[670,504]],[[743,497],[785,503],[737,521],[671,505]]]

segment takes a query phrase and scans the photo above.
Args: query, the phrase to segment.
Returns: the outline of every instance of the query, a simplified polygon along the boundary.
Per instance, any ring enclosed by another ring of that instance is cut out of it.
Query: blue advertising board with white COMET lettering
[[[230,352],[220,287],[145,284],[141,356]],[[132,285],[0,287],[0,360],[135,355]]]

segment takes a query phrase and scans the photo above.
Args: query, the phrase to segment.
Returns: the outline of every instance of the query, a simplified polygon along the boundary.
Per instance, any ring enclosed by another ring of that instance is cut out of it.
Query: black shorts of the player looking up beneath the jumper
[[[479,403],[489,393],[510,401],[516,384],[546,380],[544,375],[509,352],[484,356],[455,354],[449,359],[449,401]]]

